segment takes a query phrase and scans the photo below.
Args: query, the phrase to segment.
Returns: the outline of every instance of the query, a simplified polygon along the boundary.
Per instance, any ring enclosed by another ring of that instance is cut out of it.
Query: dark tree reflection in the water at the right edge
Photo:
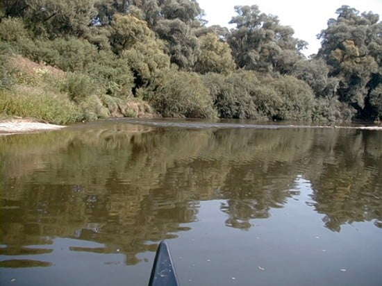
[[[319,144],[326,156],[311,158],[316,172],[310,169],[307,177],[315,211],[325,214],[322,221],[330,230],[360,221],[381,228],[381,142],[381,132],[349,131],[338,133],[332,144]]]

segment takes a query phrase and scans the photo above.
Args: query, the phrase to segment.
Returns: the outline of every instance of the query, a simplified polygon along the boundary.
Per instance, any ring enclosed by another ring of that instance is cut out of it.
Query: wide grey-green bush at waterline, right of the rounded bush
[[[228,76],[207,74],[204,83],[219,117],[272,120],[311,120],[313,92],[292,76],[260,76],[240,71]]]

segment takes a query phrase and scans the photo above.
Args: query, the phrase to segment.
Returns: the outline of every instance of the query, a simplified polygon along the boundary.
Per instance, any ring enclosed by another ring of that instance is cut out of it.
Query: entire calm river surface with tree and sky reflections
[[[382,285],[382,132],[230,124],[0,137],[0,284]]]

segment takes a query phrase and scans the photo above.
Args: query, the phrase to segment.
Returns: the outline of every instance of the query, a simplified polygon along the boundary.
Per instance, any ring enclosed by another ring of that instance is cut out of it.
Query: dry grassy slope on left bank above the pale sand
[[[1,69],[7,80],[0,88],[3,118],[33,117],[52,124],[71,124],[153,114],[152,108],[139,99],[101,94],[97,83],[86,74],[63,72],[22,56],[11,56]]]

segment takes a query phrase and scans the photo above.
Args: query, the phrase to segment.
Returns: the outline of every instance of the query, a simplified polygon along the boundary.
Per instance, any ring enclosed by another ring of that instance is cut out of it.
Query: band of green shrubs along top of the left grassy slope
[[[134,78],[128,60],[111,51],[98,51],[87,40],[22,38],[15,49],[34,62],[44,62],[65,72],[86,74],[97,81],[106,94],[119,98],[131,96]]]

